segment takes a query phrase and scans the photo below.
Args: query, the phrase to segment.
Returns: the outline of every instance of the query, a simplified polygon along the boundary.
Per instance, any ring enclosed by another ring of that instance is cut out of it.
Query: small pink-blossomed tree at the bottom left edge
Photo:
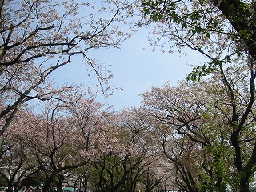
[[[18,116],[26,120],[34,118],[34,114],[28,110],[19,111]],[[20,121],[15,119],[14,122]],[[36,178],[40,170],[40,166],[34,158],[33,150],[18,135],[18,131],[15,126],[12,126],[12,129],[3,134],[0,160],[0,174],[6,179],[8,186],[14,186],[14,191],[18,191],[31,183],[32,178]]]

